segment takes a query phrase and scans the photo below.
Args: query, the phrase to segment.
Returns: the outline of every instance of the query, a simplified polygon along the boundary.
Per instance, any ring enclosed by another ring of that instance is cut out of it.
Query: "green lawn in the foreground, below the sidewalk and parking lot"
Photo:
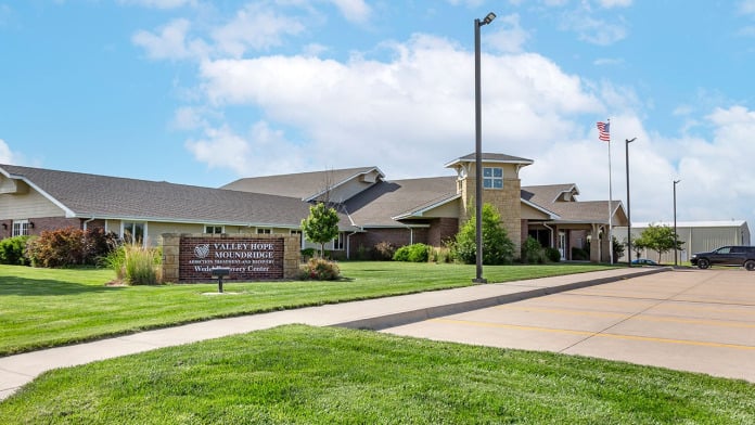
[[[9,424],[753,424],[743,381],[289,325],[48,372]]]

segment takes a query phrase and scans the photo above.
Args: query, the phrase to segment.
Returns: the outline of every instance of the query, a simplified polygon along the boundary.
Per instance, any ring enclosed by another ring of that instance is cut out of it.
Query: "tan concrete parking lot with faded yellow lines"
[[[755,272],[675,270],[382,332],[755,382]]]

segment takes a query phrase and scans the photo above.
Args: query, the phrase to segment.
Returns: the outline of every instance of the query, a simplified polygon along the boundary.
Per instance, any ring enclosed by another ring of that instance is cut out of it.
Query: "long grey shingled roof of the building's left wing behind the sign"
[[[12,165],[0,172],[25,181],[66,217],[291,227],[309,215],[296,197]]]

